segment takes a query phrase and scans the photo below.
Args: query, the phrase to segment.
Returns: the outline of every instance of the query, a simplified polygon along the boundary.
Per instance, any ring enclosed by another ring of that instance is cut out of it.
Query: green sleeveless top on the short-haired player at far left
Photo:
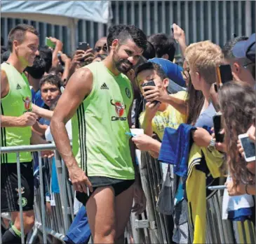
[[[1,64],[9,83],[8,94],[1,99],[1,115],[19,117],[31,111],[32,94],[24,73],[20,74],[11,64]],[[30,145],[31,127],[1,127],[1,147]],[[1,164],[16,163],[16,153],[1,154]],[[31,152],[20,152],[20,162],[31,162]]]

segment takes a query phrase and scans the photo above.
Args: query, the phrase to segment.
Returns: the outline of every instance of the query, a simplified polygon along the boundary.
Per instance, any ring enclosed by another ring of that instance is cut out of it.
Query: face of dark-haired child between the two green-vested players
[[[59,99],[60,95],[60,89],[56,85],[46,82],[41,86],[41,97],[49,107]]]

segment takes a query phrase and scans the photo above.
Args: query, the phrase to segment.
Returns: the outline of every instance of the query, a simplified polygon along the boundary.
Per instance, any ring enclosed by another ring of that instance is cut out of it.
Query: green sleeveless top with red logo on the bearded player
[[[103,62],[86,66],[93,89],[72,118],[73,153],[88,176],[135,178],[130,157],[128,112],[133,103],[130,80],[114,76]],[[86,80],[84,80],[86,82]]]

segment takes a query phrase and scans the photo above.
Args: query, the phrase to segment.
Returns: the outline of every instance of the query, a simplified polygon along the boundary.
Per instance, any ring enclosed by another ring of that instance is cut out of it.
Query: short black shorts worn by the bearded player
[[[107,187],[111,186],[114,189],[115,196],[118,196],[122,192],[126,191],[126,189],[130,188],[135,180],[119,180],[114,178],[108,178],[104,176],[89,176],[90,183],[93,185],[93,192],[97,187]],[[90,192],[90,196],[93,194]],[[86,203],[89,197],[85,192],[76,191],[76,199],[83,203],[86,206]]]

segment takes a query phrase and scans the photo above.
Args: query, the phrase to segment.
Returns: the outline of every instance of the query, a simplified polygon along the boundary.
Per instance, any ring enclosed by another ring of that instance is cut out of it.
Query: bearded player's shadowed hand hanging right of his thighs
[[[135,215],[140,215],[143,213],[143,211],[146,209],[147,206],[147,199],[144,194],[144,191],[140,185],[135,183],[134,185],[134,205],[132,208],[132,212],[135,213]]]

